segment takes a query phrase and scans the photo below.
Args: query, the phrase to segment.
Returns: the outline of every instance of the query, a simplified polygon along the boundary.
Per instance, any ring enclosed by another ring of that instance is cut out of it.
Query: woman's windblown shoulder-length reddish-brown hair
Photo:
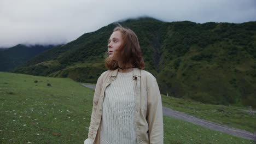
[[[141,46],[137,35],[131,30],[122,27],[121,25],[114,28],[114,31],[120,31],[123,38],[123,44],[119,47],[114,55],[114,58],[107,57],[105,66],[109,70],[117,68],[139,68],[144,69],[145,64],[141,55]]]

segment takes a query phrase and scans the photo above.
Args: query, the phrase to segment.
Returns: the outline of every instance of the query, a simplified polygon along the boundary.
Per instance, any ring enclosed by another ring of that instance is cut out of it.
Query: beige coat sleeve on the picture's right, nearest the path
[[[149,126],[149,143],[164,143],[164,128],[162,121],[162,101],[158,83],[155,77],[147,80],[148,106],[147,122]]]

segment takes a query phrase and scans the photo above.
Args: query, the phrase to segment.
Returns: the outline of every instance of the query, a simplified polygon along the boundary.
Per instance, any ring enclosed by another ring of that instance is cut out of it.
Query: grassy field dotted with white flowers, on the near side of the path
[[[0,72],[0,143],[83,143],[94,91],[70,79]],[[165,143],[254,143],[164,117]]]

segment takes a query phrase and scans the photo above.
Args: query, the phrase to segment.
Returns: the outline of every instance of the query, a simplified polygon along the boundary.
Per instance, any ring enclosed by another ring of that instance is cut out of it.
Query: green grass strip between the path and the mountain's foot
[[[256,132],[256,113],[250,114],[246,107],[202,104],[165,95],[162,95],[162,105],[228,127]]]

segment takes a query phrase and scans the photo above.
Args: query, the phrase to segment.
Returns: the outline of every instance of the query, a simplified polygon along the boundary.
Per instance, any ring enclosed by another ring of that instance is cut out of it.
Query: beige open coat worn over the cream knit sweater
[[[105,71],[96,84],[94,103],[88,139],[97,144],[100,138],[100,124],[103,98],[106,87],[117,77],[118,69]],[[135,124],[137,143],[163,143],[162,102],[155,77],[145,70],[133,68],[135,87]]]

